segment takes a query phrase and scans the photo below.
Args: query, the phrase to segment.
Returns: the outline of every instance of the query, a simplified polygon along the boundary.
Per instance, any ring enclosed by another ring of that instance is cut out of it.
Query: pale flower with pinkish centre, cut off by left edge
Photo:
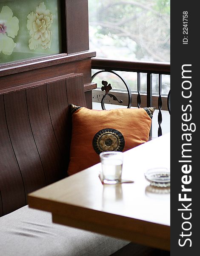
[[[11,55],[16,43],[12,38],[18,33],[19,20],[17,17],[12,17],[13,12],[9,6],[3,6],[0,12],[0,53]]]

